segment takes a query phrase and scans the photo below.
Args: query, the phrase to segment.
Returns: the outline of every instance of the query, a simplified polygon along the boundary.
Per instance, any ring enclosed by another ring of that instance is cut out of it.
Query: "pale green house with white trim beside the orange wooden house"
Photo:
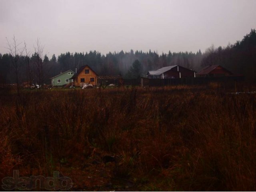
[[[69,84],[73,82],[72,76],[74,75],[74,71],[68,70],[66,72],[60,72],[60,74],[50,78],[52,82],[52,86],[64,86],[66,84]]]

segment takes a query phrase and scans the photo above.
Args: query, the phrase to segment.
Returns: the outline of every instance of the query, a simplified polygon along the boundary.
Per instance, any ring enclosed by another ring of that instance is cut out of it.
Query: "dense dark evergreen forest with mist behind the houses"
[[[15,40],[15,39],[14,39]],[[19,45],[20,47],[22,45]],[[14,50],[14,44],[10,50]],[[9,50],[9,51],[10,51]],[[99,75],[121,74],[125,78],[137,78],[146,76],[148,70],[170,65],[180,65],[199,71],[203,66],[220,64],[234,74],[243,74],[247,80],[256,81],[256,30],[252,29],[241,41],[224,47],[214,48],[210,46],[204,53],[198,50],[192,52],[171,52],[158,54],[149,50],[142,52],[130,50],[130,52],[109,52],[104,55],[96,50],[86,53],[62,53],[59,56],[53,54],[50,58],[43,54],[43,48],[37,42],[37,49],[32,55],[18,48],[20,52],[0,53],[0,84],[22,83],[50,83],[50,78],[60,71],[79,68],[88,64]],[[7,50],[8,52],[8,50]],[[26,54],[25,54],[26,53]],[[15,57],[18,55],[18,60]],[[134,61],[137,63],[134,63]]]

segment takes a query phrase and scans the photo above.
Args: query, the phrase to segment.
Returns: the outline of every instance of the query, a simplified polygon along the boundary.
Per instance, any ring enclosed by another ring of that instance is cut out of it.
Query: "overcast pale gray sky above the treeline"
[[[256,28],[256,0],[0,0],[0,53],[6,37],[36,39],[44,53],[102,54],[149,49],[202,52]]]

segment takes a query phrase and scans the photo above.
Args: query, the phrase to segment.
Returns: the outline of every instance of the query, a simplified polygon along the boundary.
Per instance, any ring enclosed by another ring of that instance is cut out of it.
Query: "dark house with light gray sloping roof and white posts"
[[[148,71],[147,73],[147,77],[152,79],[183,78],[195,76],[195,71],[179,65],[162,67],[156,71]]]

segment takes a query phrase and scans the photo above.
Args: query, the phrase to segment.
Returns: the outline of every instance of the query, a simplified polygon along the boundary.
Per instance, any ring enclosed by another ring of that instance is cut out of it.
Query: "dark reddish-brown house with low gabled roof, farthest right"
[[[220,65],[209,65],[202,68],[200,72],[196,73],[196,77],[219,77],[230,75],[232,75],[232,72]]]

